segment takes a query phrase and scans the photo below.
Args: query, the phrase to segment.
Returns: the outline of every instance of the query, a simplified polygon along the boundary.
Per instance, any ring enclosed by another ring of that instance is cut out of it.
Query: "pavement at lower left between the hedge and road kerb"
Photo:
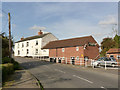
[[[3,90],[4,88],[39,88],[39,84],[27,70],[17,70],[5,83]]]

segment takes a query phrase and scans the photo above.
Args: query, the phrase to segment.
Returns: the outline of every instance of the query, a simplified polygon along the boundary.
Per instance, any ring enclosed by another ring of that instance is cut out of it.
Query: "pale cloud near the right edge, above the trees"
[[[116,20],[115,16],[108,15],[107,17],[105,17],[104,20],[99,21],[98,24],[99,25],[103,25],[103,26],[106,26],[106,25],[115,25],[115,24],[117,24],[117,20]]]

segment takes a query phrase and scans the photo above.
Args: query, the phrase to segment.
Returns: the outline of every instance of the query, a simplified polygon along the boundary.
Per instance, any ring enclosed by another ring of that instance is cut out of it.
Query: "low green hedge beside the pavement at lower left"
[[[14,73],[14,65],[12,63],[2,64],[2,81],[8,79],[9,75]]]

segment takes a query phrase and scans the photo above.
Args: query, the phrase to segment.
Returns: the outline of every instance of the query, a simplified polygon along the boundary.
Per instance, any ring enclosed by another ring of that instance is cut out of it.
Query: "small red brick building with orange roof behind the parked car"
[[[117,62],[120,62],[120,48],[111,48],[106,52],[107,57],[114,57]]]

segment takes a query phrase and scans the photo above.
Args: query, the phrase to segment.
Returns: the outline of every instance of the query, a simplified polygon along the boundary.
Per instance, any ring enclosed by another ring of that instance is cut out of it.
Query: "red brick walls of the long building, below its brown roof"
[[[50,49],[50,57],[58,57],[58,58],[67,58],[67,62],[70,63],[71,57],[79,56],[81,59],[81,63],[84,64],[84,56],[88,56],[89,59],[94,59],[99,55],[99,49],[97,46],[88,46],[85,50],[83,46],[79,46],[79,50],[76,51],[76,47],[66,47],[64,48],[64,52],[62,52],[62,48]],[[58,62],[58,59],[57,59]],[[61,63],[66,63],[65,60],[61,60]],[[80,63],[80,60],[75,60],[75,64]]]

